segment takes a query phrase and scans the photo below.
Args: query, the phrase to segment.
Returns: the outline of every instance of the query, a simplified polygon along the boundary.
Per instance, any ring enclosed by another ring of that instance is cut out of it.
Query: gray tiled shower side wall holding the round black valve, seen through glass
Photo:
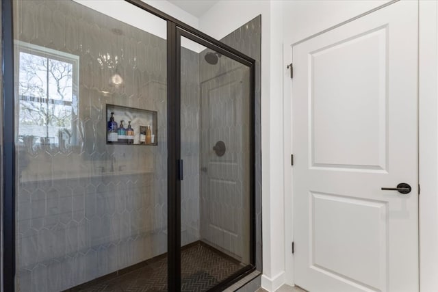
[[[222,55],[217,64],[200,53],[201,238],[249,263],[249,68]],[[223,141],[218,156],[212,147]]]

